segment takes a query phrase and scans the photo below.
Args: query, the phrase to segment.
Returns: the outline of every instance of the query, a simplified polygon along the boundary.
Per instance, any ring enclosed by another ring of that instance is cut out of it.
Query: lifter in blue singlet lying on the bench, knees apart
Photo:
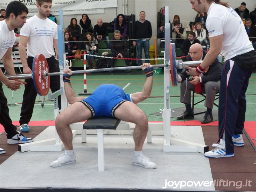
[[[71,70],[64,70],[65,94],[68,102],[72,105],[57,116],[55,126],[66,151],[56,161],[51,162],[51,167],[76,162],[72,145],[72,131],[69,124],[82,122],[97,116],[111,116],[136,124],[133,134],[135,147],[132,163],[148,169],[156,168],[156,164],[141,153],[147,136],[148,118],[136,104],[150,96],[153,83],[153,69],[150,68],[150,64],[144,63],[141,68],[145,71],[147,77],[142,92],[126,94],[117,85],[100,85],[89,97],[76,97],[70,84],[72,72]]]

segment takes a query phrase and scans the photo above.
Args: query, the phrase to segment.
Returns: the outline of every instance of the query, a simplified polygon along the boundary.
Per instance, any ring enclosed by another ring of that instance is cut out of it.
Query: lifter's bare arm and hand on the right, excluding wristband
[[[145,70],[145,68],[150,67],[150,63],[143,63],[141,65],[141,69]],[[132,102],[137,104],[149,98],[153,85],[153,76],[147,77],[143,86],[142,92],[135,92],[132,94]]]

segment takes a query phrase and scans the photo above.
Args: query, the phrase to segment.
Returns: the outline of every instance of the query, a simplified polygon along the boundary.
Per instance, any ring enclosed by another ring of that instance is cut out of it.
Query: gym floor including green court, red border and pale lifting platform
[[[112,74],[89,74],[87,75],[87,91],[92,92],[101,84],[116,84],[125,87],[125,92],[141,91],[145,75],[141,71],[132,71],[131,74],[114,72]],[[83,76],[72,76],[72,87],[76,93],[83,92]],[[23,88],[12,93],[4,87],[4,92],[10,105],[9,111],[13,124],[18,125],[22,102]],[[13,94],[13,95],[12,95]],[[180,89],[171,87],[171,109],[184,107],[179,102]],[[108,135],[105,137],[105,163],[106,170],[98,172],[97,167],[97,142],[96,136],[88,137],[88,142],[82,144],[81,136],[74,138],[77,162],[61,168],[50,168],[49,163],[54,161],[61,152],[25,152],[19,153],[15,145],[6,144],[5,133],[0,135],[0,146],[7,153],[0,155],[0,188],[121,188],[121,189],[155,189],[162,190],[167,181],[215,181],[220,179],[234,181],[236,185],[215,186],[183,186],[174,188],[167,186],[169,190],[236,190],[256,191],[256,161],[255,140],[256,138],[256,71],[252,74],[247,90],[247,113],[246,127],[249,127],[248,138],[244,135],[245,146],[235,149],[235,157],[224,159],[208,159],[201,153],[164,153],[163,136],[154,135],[152,144],[145,142],[143,153],[156,162],[156,170],[147,170],[133,166],[131,163],[133,152],[133,139],[130,135]],[[254,95],[253,95],[254,94]],[[161,116],[152,115],[163,109],[163,75],[154,75],[154,85],[151,96],[138,106],[145,111],[149,121],[162,121]],[[201,99],[197,96],[196,100]],[[35,140],[51,138],[54,135],[54,103],[45,100],[41,107],[42,97],[37,97],[31,131]],[[218,102],[218,100],[216,101]],[[204,109],[203,104],[197,108]],[[182,108],[181,108],[182,109]],[[217,107],[214,106],[214,111]],[[176,110],[177,111],[177,110]],[[74,114],[75,115],[75,114]],[[176,114],[174,114],[176,116]],[[215,116],[215,119],[217,116]],[[171,118],[172,134],[185,140],[201,144],[211,145],[217,140],[217,121],[202,126],[201,117],[194,121],[178,121]],[[34,126],[33,126],[34,125]],[[186,126],[184,126],[186,125]],[[2,132],[2,129],[0,129]],[[248,135],[246,133],[246,135]],[[254,142],[254,144],[253,144]],[[210,146],[211,149],[211,146]],[[13,173],[15,172],[15,175]],[[24,174],[26,176],[23,176]],[[92,176],[93,175],[93,176]],[[12,178],[12,179],[10,179]],[[17,181],[17,182],[16,182]],[[251,181],[251,183],[248,183]],[[243,182],[243,185],[239,185]],[[246,183],[247,182],[247,183]],[[249,185],[247,185],[249,184]]]

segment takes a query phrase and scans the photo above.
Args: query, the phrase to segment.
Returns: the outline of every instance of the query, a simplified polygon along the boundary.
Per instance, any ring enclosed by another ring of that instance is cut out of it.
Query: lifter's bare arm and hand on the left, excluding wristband
[[[72,71],[70,69],[66,69],[63,72],[69,75],[72,75]],[[70,83],[64,82],[64,89],[65,89],[65,95],[67,97],[69,104],[73,104],[77,101],[80,101],[86,98],[86,97],[76,97],[76,93],[74,92],[74,89],[72,88]]]

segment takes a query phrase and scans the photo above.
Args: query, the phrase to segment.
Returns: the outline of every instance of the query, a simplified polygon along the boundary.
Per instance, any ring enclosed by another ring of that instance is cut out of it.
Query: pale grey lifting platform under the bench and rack
[[[35,141],[52,138],[50,126]],[[177,138],[204,144],[200,126],[172,126]],[[49,166],[64,152],[17,152],[0,165],[0,187],[54,187],[54,188],[140,188],[162,189],[167,181],[212,181],[208,158],[201,153],[163,152],[163,136],[145,142],[143,154],[155,162],[157,168],[148,170],[132,164],[134,141],[132,135],[105,135],[105,172],[98,172],[97,138],[81,135],[73,139],[76,160],[59,168]],[[179,189],[167,187],[167,189]],[[181,190],[214,190],[214,186],[184,186]]]

